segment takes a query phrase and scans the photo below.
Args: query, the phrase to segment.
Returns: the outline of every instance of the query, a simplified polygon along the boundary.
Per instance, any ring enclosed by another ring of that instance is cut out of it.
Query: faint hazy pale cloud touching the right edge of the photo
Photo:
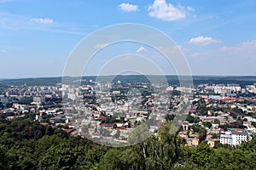
[[[241,42],[240,44],[236,46],[224,46],[223,48],[219,48],[220,51],[226,52],[229,54],[244,54],[244,53],[255,53],[256,52],[256,39],[247,41],[247,42]]]

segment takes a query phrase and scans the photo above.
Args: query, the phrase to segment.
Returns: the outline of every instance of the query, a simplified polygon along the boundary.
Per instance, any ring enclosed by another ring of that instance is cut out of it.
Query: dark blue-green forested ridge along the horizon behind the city
[[[150,78],[150,80],[153,80],[154,82],[161,82],[163,80],[163,76],[147,76]],[[121,82],[148,82],[147,77],[143,75],[127,75],[127,76],[116,76],[113,78],[113,82],[121,81]],[[77,78],[73,77],[66,77],[67,80],[75,80]],[[99,77],[83,77],[84,80],[87,81],[96,81]],[[100,77],[101,80],[108,81],[111,77]],[[0,83],[10,86],[21,86],[21,85],[28,85],[28,86],[37,86],[37,85],[55,85],[56,83],[60,83],[62,80],[62,77],[38,77],[38,78],[21,78],[21,79],[5,79],[0,81]],[[170,84],[176,84],[178,85],[178,77],[174,75],[167,75],[166,80]],[[253,84],[256,83],[256,77],[253,76],[193,76],[193,82],[195,85],[198,84],[204,84],[204,83],[238,83],[241,84],[242,87],[244,87],[247,84]]]

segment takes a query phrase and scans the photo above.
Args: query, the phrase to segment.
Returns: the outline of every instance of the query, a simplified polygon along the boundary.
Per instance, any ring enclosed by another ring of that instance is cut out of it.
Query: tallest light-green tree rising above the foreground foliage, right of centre
[[[134,161],[128,161],[131,169],[171,169],[174,167],[180,153],[176,132],[177,127],[166,122],[160,127],[156,136],[151,136],[132,146],[129,155]]]

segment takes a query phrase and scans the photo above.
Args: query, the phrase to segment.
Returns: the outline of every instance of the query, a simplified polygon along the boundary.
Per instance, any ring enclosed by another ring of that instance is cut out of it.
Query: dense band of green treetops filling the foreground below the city
[[[195,131],[204,131],[197,129]],[[256,139],[237,148],[187,147],[166,123],[143,143],[109,148],[30,119],[0,119],[0,169],[253,169]],[[203,133],[203,132],[202,132]]]

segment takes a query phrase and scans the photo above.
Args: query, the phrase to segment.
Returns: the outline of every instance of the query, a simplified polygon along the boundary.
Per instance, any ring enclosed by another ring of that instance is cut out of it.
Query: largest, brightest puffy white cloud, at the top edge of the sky
[[[189,11],[194,11],[194,8],[173,6],[172,3],[166,3],[166,0],[154,0],[152,5],[148,6],[148,15],[160,20],[182,20],[186,18]]]

